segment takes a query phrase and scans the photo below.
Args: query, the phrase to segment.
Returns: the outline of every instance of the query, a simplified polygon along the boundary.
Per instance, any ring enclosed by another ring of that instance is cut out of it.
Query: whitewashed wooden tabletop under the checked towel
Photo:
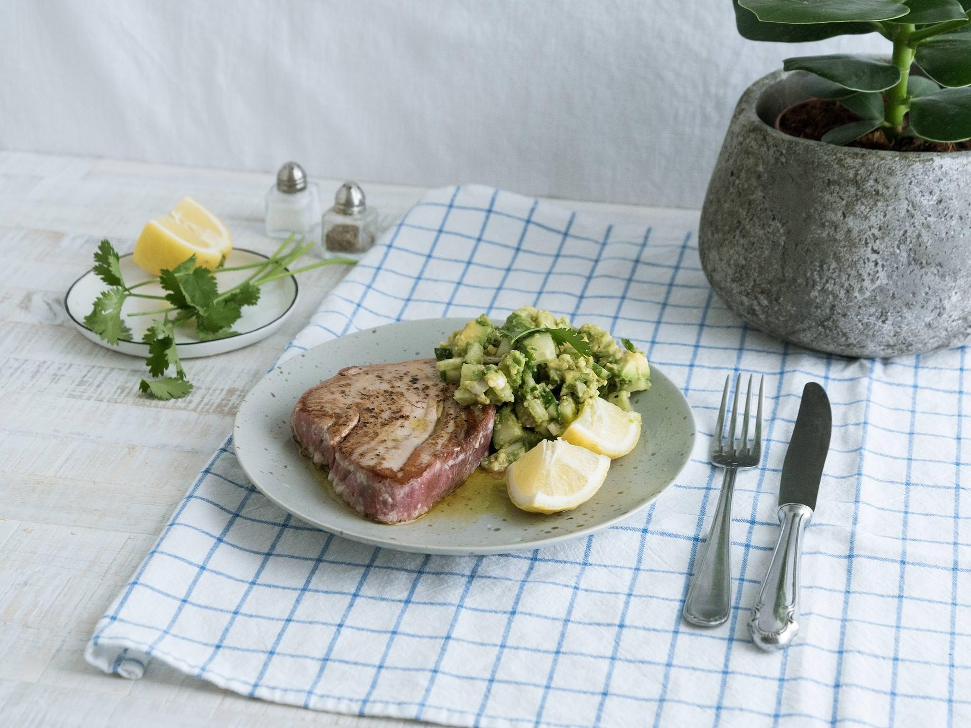
[[[298,310],[274,336],[186,369],[196,388],[156,402],[144,362],[86,341],[64,313],[101,238],[123,251],[145,221],[189,194],[234,244],[271,251],[271,175],[0,151],[0,726],[407,725],[263,703],[153,662],[107,676],[82,652],[98,616],[151,547],[229,432],[240,401],[344,274],[301,277]],[[329,196],[340,182],[318,181]],[[362,183],[386,224],[415,187]],[[589,213],[688,211],[564,203]],[[414,724],[411,724],[414,725]]]

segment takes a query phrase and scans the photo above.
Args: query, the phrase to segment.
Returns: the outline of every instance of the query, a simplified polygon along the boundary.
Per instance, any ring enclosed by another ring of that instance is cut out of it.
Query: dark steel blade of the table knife
[[[783,462],[779,485],[779,505],[801,503],[816,510],[820,493],[822,467],[829,451],[829,434],[833,426],[826,390],[810,381],[802,390],[799,414],[795,418],[792,439]]]

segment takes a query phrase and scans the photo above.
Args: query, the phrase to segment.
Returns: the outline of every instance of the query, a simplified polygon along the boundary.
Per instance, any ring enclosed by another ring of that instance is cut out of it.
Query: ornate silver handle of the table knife
[[[802,535],[812,517],[813,510],[801,503],[787,503],[779,509],[783,530],[749,620],[752,641],[762,649],[781,649],[799,631]]]

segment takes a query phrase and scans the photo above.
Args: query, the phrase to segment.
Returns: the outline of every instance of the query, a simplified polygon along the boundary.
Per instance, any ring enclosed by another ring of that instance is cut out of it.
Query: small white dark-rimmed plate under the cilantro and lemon
[[[243,248],[233,248],[226,258],[226,267],[250,265],[266,259],[267,256],[262,253]],[[131,253],[122,255],[118,265],[121,267],[121,275],[126,283],[148,281],[152,278],[149,273],[135,265]],[[219,290],[226,290],[243,282],[251,273],[252,271],[249,270],[220,273],[218,276]],[[149,355],[149,345],[142,343],[142,335],[148,329],[152,316],[128,316],[128,314],[154,311],[159,308],[159,302],[150,298],[127,299],[121,313],[127,316],[125,323],[131,328],[132,338],[121,339],[118,341],[117,347],[113,347],[84,325],[84,316],[91,313],[95,299],[107,288],[108,286],[104,281],[88,271],[68,288],[67,295],[64,296],[64,309],[86,339],[100,347],[145,358]],[[259,287],[259,301],[256,302],[255,306],[244,307],[243,314],[233,326],[233,329],[239,332],[235,336],[200,342],[195,337],[194,331],[187,326],[177,326],[176,347],[179,348],[179,356],[183,359],[212,356],[237,348],[249,347],[251,344],[262,341],[283,326],[284,321],[293,313],[293,305],[297,302],[298,292],[297,281],[292,276],[261,285]],[[163,295],[165,291],[158,283],[151,283],[140,288],[139,293],[159,296]]]

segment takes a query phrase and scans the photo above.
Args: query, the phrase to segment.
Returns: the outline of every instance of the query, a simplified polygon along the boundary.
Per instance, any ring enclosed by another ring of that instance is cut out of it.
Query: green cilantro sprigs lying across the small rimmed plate
[[[142,336],[142,342],[149,345],[149,356],[145,364],[153,379],[142,380],[139,390],[155,399],[180,399],[192,391],[192,382],[186,378],[179,358],[176,327],[194,323],[195,335],[199,341],[237,336],[239,332],[233,329],[233,324],[239,320],[245,307],[259,302],[260,286],[324,265],[353,265],[355,262],[348,258],[331,258],[289,270],[291,264],[313,247],[313,243],[305,243],[303,239],[294,240],[290,236],[266,260],[230,268],[219,267],[213,271],[198,266],[193,255],[171,270],[162,270],[158,278],[129,285],[121,274],[117,250],[107,240],[103,240],[94,252],[94,266],[91,271],[108,288],[95,300],[91,313],[84,316],[84,325],[112,346],[117,346],[122,339],[130,341],[132,338],[131,328],[125,322],[126,317],[154,316]],[[245,281],[228,290],[219,291],[218,274],[242,270],[251,270]],[[149,295],[138,291],[152,282],[161,286],[164,295]],[[155,299],[159,306],[168,305],[153,311],[123,314],[124,303],[129,298]]]

